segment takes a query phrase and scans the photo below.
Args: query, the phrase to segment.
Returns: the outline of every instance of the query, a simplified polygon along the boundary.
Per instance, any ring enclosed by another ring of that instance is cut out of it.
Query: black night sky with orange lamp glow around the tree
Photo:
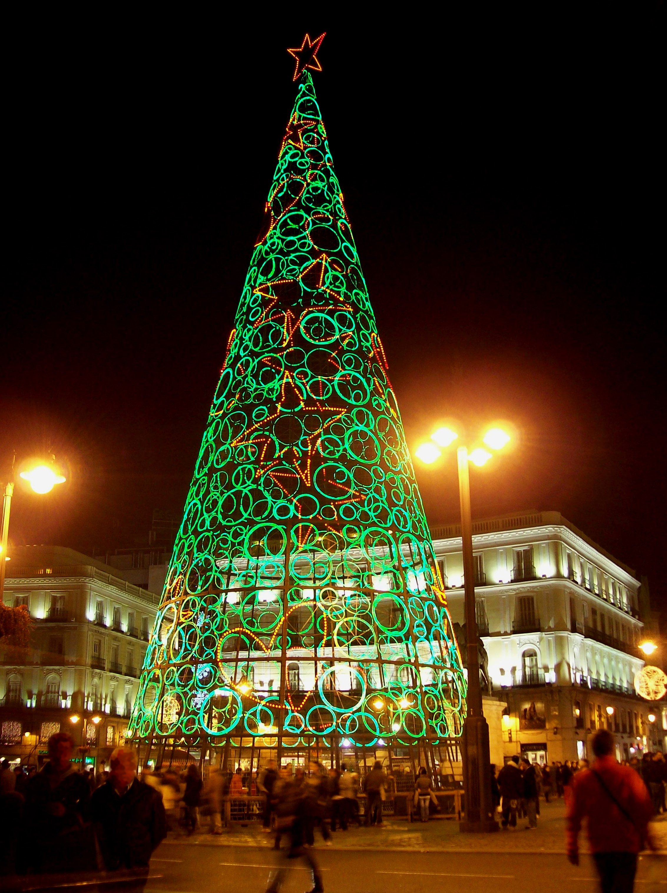
[[[663,5],[382,8],[11,29],[0,459],[50,450],[69,482],[17,492],[10,538],[144,544],[182,508],[294,101],[285,48],[326,30],[313,78],[409,446],[513,421],[473,515],[561,511],[664,610]],[[455,521],[454,458],[417,474],[429,522]]]

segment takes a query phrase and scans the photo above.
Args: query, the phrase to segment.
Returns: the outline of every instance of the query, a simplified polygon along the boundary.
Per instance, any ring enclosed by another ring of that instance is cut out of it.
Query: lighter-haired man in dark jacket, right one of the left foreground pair
[[[93,794],[90,811],[104,867],[123,873],[118,883],[105,884],[104,889],[142,893],[151,855],[167,833],[163,799],[156,789],[138,780],[136,751],[116,747],[109,763],[109,779]]]

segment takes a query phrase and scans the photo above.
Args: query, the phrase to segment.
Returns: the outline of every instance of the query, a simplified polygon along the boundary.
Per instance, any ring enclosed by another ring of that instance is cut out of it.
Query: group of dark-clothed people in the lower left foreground
[[[48,741],[38,772],[0,772],[4,875],[120,872],[127,893],[146,884],[154,848],[166,835],[163,799],[137,776],[137,754],[116,748],[97,777],[72,762],[71,735]],[[10,778],[10,774],[13,778]],[[107,885],[115,889],[113,881]]]

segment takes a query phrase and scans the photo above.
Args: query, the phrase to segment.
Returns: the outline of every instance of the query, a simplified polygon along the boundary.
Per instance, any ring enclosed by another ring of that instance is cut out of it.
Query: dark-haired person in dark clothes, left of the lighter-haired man
[[[56,732],[48,739],[47,749],[48,762],[26,785],[22,869],[96,870],[94,834],[88,824],[90,788],[71,762],[74,741],[67,732]]]

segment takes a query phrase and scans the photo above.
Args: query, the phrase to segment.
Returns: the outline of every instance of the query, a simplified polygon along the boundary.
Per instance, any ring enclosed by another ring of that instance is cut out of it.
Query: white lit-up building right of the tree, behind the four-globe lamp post
[[[452,619],[463,626],[460,528],[431,532]],[[602,727],[616,733],[621,759],[663,749],[667,714],[634,688],[644,665],[634,572],[557,512],[475,522],[473,553],[488,678],[507,705],[504,756],[589,757],[588,739]]]

